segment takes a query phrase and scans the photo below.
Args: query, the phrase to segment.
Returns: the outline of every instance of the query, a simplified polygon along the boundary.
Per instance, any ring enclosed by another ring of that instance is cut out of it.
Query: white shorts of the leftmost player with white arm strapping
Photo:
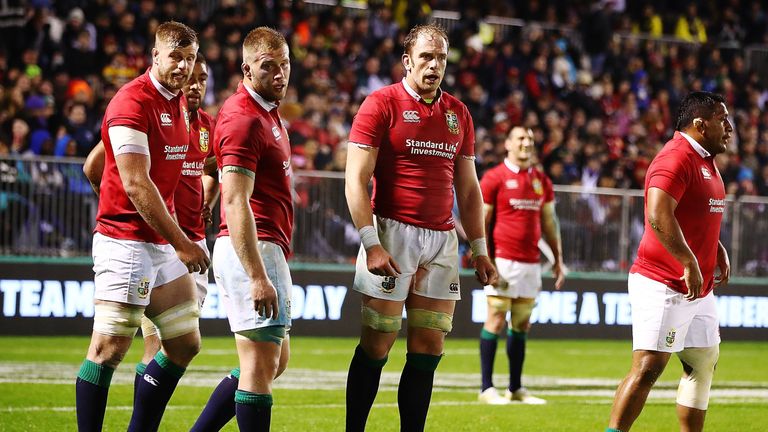
[[[101,233],[93,236],[96,300],[149,304],[152,289],[187,274],[169,244],[120,240]]]

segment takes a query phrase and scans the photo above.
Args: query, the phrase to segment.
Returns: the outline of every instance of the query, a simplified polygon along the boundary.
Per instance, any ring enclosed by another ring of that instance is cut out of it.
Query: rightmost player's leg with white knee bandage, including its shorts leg
[[[677,390],[677,417],[683,432],[701,431],[707,415],[709,391],[720,354],[720,324],[714,297],[710,293],[699,300],[685,338],[685,349],[677,353],[683,365]]]

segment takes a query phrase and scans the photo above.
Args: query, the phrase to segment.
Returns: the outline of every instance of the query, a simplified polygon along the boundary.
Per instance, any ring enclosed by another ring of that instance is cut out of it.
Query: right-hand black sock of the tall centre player
[[[397,390],[401,432],[421,432],[427,421],[435,369],[442,356],[406,354],[405,367]]]

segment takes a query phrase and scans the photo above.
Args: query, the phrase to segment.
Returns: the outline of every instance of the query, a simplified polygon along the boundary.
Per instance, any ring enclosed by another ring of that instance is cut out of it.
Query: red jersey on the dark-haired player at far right
[[[695,149],[680,132],[675,132],[653,159],[645,176],[646,200],[648,189],[657,187],[677,201],[675,218],[704,277],[702,297],[714,286],[717,242],[725,212],[723,179],[713,158],[706,155],[706,150]],[[645,232],[630,272],[662,282],[680,293],[688,292],[685,282],[680,280],[683,266],[656,238],[648,223],[647,207]]]

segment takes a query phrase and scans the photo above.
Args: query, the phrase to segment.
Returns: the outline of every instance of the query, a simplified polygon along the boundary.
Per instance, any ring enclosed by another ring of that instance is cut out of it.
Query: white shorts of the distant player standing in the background
[[[485,295],[505,298],[536,298],[541,291],[541,264],[496,258],[498,286],[486,285]]]

